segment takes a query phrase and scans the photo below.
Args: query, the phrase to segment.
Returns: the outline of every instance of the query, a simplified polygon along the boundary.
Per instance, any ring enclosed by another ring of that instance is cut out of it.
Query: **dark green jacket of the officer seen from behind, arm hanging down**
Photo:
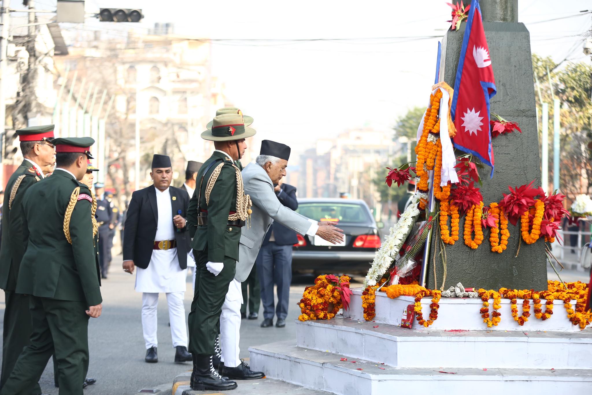
[[[76,187],[80,187],[80,194],[70,218],[70,244],[63,223]],[[21,263],[17,293],[81,301],[87,306],[101,303],[88,187],[68,172],[56,169],[52,176],[29,188],[22,205],[28,246]]]

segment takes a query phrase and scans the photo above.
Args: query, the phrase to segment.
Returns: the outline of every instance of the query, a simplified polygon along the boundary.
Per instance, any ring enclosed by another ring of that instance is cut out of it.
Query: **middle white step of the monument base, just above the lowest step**
[[[420,331],[337,316],[332,320],[297,321],[296,333],[300,347],[393,367],[592,369],[592,329]]]

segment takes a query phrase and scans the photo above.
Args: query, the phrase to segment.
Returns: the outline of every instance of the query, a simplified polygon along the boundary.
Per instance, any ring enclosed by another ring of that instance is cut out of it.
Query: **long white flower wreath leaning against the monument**
[[[366,274],[364,287],[376,285],[377,278],[385,274],[392,261],[396,258],[409,232],[411,232],[411,227],[420,214],[419,208],[417,208],[417,201],[419,201],[419,192],[413,195],[411,203],[407,206],[407,210],[401,214],[401,218],[395,226],[391,227],[389,235],[384,237],[384,242],[376,253],[368,274]]]

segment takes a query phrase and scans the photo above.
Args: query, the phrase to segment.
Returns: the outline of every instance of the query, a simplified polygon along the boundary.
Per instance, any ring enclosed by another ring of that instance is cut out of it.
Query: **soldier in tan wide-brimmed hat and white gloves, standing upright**
[[[241,227],[250,215],[242,176],[234,164],[246,149],[244,139],[255,135],[244,126],[242,114],[217,115],[202,139],[214,141],[215,151],[198,172],[196,189],[187,211],[196,264],[194,300],[189,313],[189,351],[194,368],[194,390],[232,390],[213,367],[214,343],[220,313],[239,258]]]

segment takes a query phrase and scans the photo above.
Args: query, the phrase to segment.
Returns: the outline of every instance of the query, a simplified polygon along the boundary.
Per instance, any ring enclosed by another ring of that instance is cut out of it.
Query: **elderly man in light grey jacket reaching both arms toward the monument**
[[[301,235],[318,235],[334,244],[343,240],[343,231],[334,226],[336,223],[308,219],[279,202],[274,184],[285,176],[289,155],[290,147],[287,145],[263,140],[256,163],[249,163],[242,171],[244,193],[250,195],[253,202],[251,227],[242,230],[236,275],[230,283],[220,316],[223,363],[220,363],[218,370],[221,375],[232,380],[253,380],[264,375],[263,372],[251,371],[249,365],[239,359],[240,282],[249,276],[271,223],[275,220]]]

